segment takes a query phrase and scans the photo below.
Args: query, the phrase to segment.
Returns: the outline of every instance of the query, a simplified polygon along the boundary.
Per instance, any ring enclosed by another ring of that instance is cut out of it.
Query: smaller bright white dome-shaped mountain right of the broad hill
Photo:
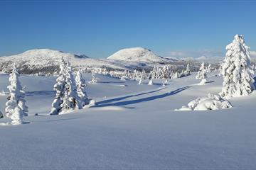
[[[165,62],[163,57],[143,47],[124,48],[115,52],[108,60],[124,60],[127,62]]]

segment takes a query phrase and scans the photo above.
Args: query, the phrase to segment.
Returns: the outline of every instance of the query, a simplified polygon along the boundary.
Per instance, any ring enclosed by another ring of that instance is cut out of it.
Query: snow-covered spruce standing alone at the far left
[[[9,96],[6,102],[6,116],[11,118],[11,124],[23,123],[23,116],[28,115],[28,106],[26,106],[25,91],[21,86],[21,82],[18,79],[19,74],[14,66],[9,77],[10,85],[7,86],[9,89]]]

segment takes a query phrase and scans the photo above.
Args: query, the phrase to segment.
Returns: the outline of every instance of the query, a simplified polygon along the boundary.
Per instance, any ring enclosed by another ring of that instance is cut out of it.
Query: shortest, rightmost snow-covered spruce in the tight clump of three
[[[78,102],[80,102],[80,106],[83,107],[83,106],[89,104],[90,100],[88,99],[86,91],[85,91],[87,84],[85,83],[85,79],[82,78],[82,74],[80,73],[80,71],[78,71],[76,74],[75,84],[77,87],[77,93],[78,93],[78,97],[79,97]]]

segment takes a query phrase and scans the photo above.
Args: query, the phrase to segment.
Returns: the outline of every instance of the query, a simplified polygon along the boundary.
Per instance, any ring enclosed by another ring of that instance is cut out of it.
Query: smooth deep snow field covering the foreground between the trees
[[[0,169],[255,169],[256,91],[231,98],[233,108],[174,111],[218,94],[215,74],[204,86],[192,74],[164,87],[97,74],[87,86],[96,105],[65,115],[48,115],[56,77],[22,75],[30,123],[0,126]],[[0,75],[0,91],[8,79]],[[0,96],[3,113],[5,102]]]

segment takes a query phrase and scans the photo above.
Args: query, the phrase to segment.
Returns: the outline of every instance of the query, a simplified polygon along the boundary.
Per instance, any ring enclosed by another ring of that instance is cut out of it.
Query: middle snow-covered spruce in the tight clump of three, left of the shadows
[[[60,104],[61,112],[68,113],[75,108],[82,108],[80,105],[76,85],[75,85],[75,78],[73,76],[72,68],[70,67],[70,63],[67,62],[67,71],[65,72],[65,87],[64,87],[64,97],[63,103]]]

